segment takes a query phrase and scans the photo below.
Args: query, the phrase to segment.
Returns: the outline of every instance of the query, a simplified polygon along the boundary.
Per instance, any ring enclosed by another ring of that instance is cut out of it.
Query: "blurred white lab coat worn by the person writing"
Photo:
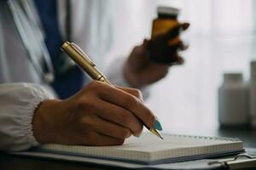
[[[65,1],[60,0],[58,5],[60,25],[64,28],[66,11],[61,2]],[[96,63],[103,63],[100,57],[111,44],[109,3],[105,0],[73,1],[73,41],[86,49],[90,56],[95,56]],[[23,15],[21,11],[32,55],[40,62],[41,52],[33,43],[37,32],[33,31],[32,23]],[[65,31],[61,32],[64,34]],[[128,86],[122,77],[123,63],[124,59],[115,62],[116,68],[108,71],[108,78]],[[32,116],[38,104],[55,98],[47,87],[27,56],[7,3],[0,1],[0,150],[26,150],[38,145],[32,133]]]

